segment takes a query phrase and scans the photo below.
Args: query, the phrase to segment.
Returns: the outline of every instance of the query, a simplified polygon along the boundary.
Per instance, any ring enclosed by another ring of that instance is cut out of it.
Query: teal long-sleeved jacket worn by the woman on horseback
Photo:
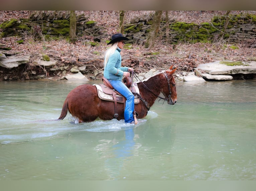
[[[121,67],[121,49],[117,47],[115,53],[109,57],[104,68],[104,77],[108,80],[122,81],[123,72],[128,72],[128,67]]]

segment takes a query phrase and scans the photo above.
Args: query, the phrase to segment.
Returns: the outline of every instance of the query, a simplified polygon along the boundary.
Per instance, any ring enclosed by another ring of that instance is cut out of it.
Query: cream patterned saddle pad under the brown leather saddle
[[[113,95],[110,93],[110,92],[113,92],[113,94],[116,96],[116,101],[119,102],[119,103],[124,103],[124,96],[118,95],[116,93],[116,91],[113,91],[109,87],[107,87],[107,86],[105,86],[103,84],[100,84],[100,85],[94,84],[93,86],[95,86],[97,88],[97,92],[98,92],[99,98],[107,100],[107,101],[114,101]],[[104,90],[103,90],[103,88],[104,88]],[[135,95],[135,97],[134,97],[134,104],[138,104],[139,102],[140,102],[140,99],[137,97],[137,95]]]

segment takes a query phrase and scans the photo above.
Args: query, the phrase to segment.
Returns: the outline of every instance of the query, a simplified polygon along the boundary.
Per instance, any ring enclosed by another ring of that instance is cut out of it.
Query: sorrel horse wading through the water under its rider
[[[176,68],[177,69],[177,68]],[[137,83],[139,89],[140,102],[135,104],[137,118],[147,115],[150,107],[157,97],[164,99],[168,104],[174,105],[177,101],[175,78],[172,66],[161,73]],[[160,97],[162,93],[164,97]],[[67,96],[58,120],[66,117],[67,112],[78,118],[79,122],[91,122],[97,117],[103,120],[114,118],[114,102],[100,99],[97,89],[93,85],[84,84],[73,89]],[[117,103],[117,120],[124,119],[124,104]]]

